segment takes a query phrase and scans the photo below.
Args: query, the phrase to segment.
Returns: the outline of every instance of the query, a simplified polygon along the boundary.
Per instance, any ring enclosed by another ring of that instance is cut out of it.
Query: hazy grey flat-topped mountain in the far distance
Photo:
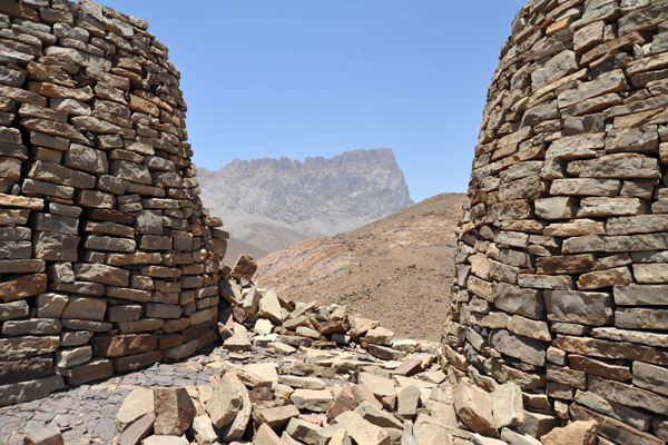
[[[232,238],[266,251],[361,227],[413,204],[387,148],[303,162],[235,159],[217,171],[198,168],[197,178],[205,206],[223,218]]]

